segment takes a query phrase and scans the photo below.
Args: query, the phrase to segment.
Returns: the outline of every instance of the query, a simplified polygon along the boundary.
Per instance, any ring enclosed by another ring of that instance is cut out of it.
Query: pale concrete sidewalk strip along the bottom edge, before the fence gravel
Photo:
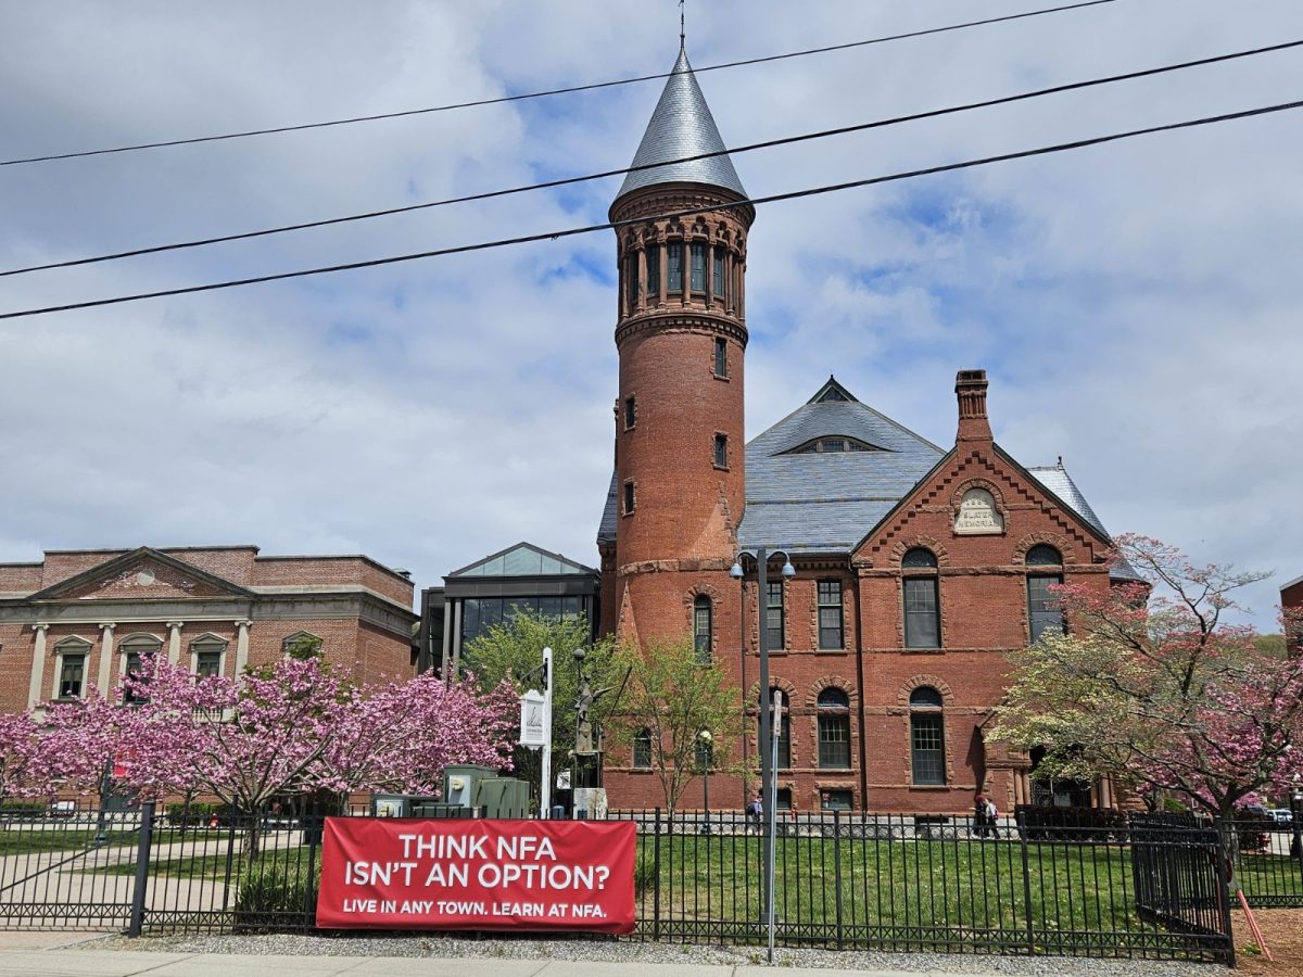
[[[906,977],[907,970],[830,970],[573,960],[410,956],[251,956],[130,950],[0,950],[4,977]],[[971,970],[995,977],[993,970]]]

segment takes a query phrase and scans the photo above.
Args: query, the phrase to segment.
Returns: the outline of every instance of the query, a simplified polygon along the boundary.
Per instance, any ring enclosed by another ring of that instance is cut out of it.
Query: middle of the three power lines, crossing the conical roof
[[[364,214],[349,214],[340,218],[326,218],[322,220],[309,220],[300,224],[283,224],[279,227],[263,228],[259,231],[244,231],[233,234],[219,234],[216,237],[202,237],[192,241],[180,241],[165,245],[152,245],[150,248],[134,248],[128,251],[112,251],[109,254],[98,254],[87,258],[69,258],[61,262],[50,262],[46,264],[31,264],[25,268],[9,268],[7,271],[0,271],[0,277],[8,275],[26,275],[33,271],[50,271],[52,268],[69,268],[78,264],[95,264],[98,262],[120,261],[122,258],[137,258],[143,254],[159,254],[162,251],[176,251],[186,248],[203,248],[206,245],[223,244],[227,241],[242,241],[253,237],[266,237],[268,234],[283,234],[291,231],[306,231],[309,228],[317,227],[330,227],[332,224],[345,224],[354,220],[371,220],[374,218],[391,216],[394,214],[408,214],[410,211],[427,210],[430,207],[447,207],[455,203],[469,203],[473,201],[487,201],[496,197],[508,197],[519,193],[528,193],[530,190],[547,190],[558,186],[568,186],[572,184],[589,182],[592,180],[603,180],[611,176],[622,176],[624,173],[633,173],[644,169],[657,169],[659,167],[675,165],[679,163],[692,163],[700,159],[710,159],[713,156],[724,155],[739,155],[743,152],[752,152],[754,150],[773,149],[775,146],[788,146],[797,142],[808,142],[810,139],[823,139],[831,135],[846,135],[848,133],[864,132],[868,129],[880,129],[890,125],[900,125],[902,122],[913,122],[923,119],[936,119],[938,116],[954,115],[958,112],[969,112],[977,108],[990,108],[993,106],[1005,106],[1014,102],[1024,102],[1027,99],[1042,98],[1045,95],[1055,95],[1065,91],[1076,91],[1079,89],[1089,89],[1097,85],[1109,85],[1121,81],[1132,81],[1135,78],[1145,78],[1156,74],[1165,74],[1167,72],[1179,72],[1187,68],[1197,68],[1209,64],[1217,64],[1221,61],[1233,61],[1239,57],[1251,57],[1253,55],[1263,55],[1269,52],[1285,51],[1287,48],[1295,48],[1303,46],[1303,39],[1289,40],[1281,44],[1270,44],[1268,47],[1257,47],[1247,51],[1235,51],[1229,55],[1214,55],[1212,57],[1201,57],[1194,61],[1181,61],[1179,64],[1162,65],[1160,68],[1145,68],[1138,72],[1126,72],[1123,74],[1110,74],[1102,78],[1091,78],[1087,81],[1068,82],[1065,85],[1054,85],[1048,89],[1036,89],[1033,91],[1024,91],[1016,95],[1005,95],[994,99],[985,99],[982,102],[969,102],[962,106],[950,106],[947,108],[934,108],[926,112],[915,112],[904,116],[895,116],[891,119],[881,119],[872,122],[860,122],[856,125],[844,125],[835,129],[821,129],[814,133],[804,133],[801,135],[787,135],[778,139],[766,139],[764,142],[753,142],[743,146],[735,146],[732,149],[717,150],[714,152],[700,152],[694,156],[680,156],[678,159],[665,160],[662,163],[646,163],[636,167],[625,167],[623,169],[607,169],[599,173],[589,173],[586,176],[571,176],[563,177],[560,180],[547,180],[537,184],[526,184],[524,186],[512,186],[503,190],[486,190],[483,193],[466,194],[464,197],[450,197],[442,201],[426,201],[423,203],[408,203],[401,207],[387,207],[384,210],[366,211]]]

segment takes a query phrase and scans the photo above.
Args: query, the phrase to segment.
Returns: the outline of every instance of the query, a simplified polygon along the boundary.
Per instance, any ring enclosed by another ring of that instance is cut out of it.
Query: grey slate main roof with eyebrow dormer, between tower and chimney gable
[[[786,453],[834,435],[878,451]],[[829,378],[807,404],[747,446],[739,545],[850,552],[945,453]]]

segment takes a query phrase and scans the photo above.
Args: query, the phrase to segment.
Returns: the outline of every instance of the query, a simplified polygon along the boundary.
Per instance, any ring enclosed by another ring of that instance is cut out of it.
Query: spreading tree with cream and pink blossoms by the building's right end
[[[1044,746],[1044,775],[1108,775],[1222,817],[1283,791],[1303,775],[1303,655],[1226,620],[1264,574],[1139,535],[1119,537],[1114,559],[1144,582],[1059,588],[1067,633],[1014,655],[990,736]]]

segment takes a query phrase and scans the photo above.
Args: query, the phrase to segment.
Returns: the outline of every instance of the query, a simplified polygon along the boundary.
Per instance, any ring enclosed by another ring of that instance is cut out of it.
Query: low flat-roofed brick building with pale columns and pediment
[[[366,556],[255,546],[59,550],[0,564],[0,710],[109,694],[134,657],[235,676],[319,640],[358,681],[413,672],[412,581]]]

